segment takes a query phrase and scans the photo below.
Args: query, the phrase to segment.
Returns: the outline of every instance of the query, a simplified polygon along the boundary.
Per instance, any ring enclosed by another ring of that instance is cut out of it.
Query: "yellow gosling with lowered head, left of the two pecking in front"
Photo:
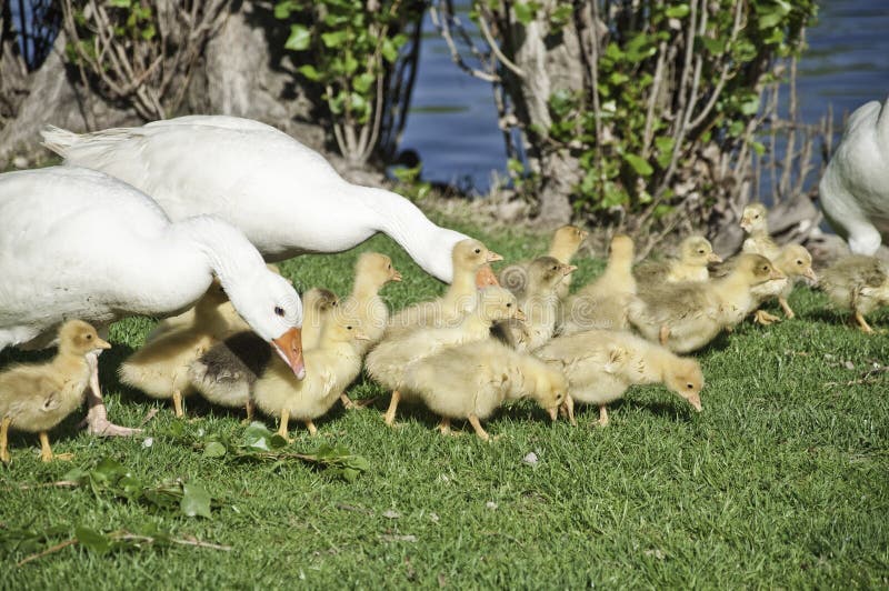
[[[530,397],[555,415],[566,389],[560,371],[493,339],[446,348],[404,373],[404,390],[442,418],[443,430],[451,419],[467,419],[486,441],[480,421],[503,401]]]

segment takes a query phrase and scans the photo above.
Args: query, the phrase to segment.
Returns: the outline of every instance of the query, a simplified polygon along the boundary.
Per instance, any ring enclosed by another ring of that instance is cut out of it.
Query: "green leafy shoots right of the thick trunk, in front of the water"
[[[785,0],[748,2],[748,26],[733,34],[736,7],[733,0],[720,0],[718,9],[709,11],[705,32],[698,32],[693,41],[695,58],[702,58],[699,80],[690,78],[687,88],[668,78],[669,68],[658,71],[657,64],[662,58],[660,50],[669,47],[678,31],[688,28],[692,16],[689,4],[642,2],[637,8],[638,18],[616,22],[618,29],[609,36],[599,58],[598,121],[590,94],[557,90],[550,97],[553,122],[549,136],[566,146],[573,142],[571,149],[585,171],[573,196],[577,209],[595,214],[620,207],[639,213],[660,192],[665,199],[655,211],[657,218],[670,211],[671,191],[666,177],[671,166],[683,164],[683,154],[695,153],[710,140],[729,152],[745,141],[752,142],[745,132],[760,109],[757,86],[761,88],[771,80],[768,71],[759,72],[759,64],[798,54],[802,28],[813,17],[816,4],[811,0],[792,4]],[[628,22],[638,24],[631,28]],[[685,48],[680,44],[678,50],[675,68],[681,72]],[[657,89],[656,77],[661,78]],[[692,83],[698,84],[698,104],[689,111],[689,121],[711,94],[719,94],[710,113],[697,126],[685,129],[680,138],[676,119],[686,113],[667,106],[656,107],[649,116],[651,101],[658,100],[652,93],[667,92],[676,104],[687,100],[682,93],[690,92]],[[608,129],[609,141],[600,137],[603,128]],[[762,146],[755,144],[753,149],[761,153]]]

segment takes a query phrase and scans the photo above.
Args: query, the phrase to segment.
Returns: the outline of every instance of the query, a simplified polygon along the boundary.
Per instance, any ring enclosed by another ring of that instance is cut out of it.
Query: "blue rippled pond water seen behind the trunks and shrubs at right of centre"
[[[818,23],[808,31],[808,42],[797,82],[803,122],[818,122],[832,106],[835,123],[840,126],[843,112],[870,100],[886,100],[889,2],[822,2]],[[506,150],[491,87],[453,64],[428,14],[401,148],[419,153],[427,180],[485,193],[492,171],[506,174]]]

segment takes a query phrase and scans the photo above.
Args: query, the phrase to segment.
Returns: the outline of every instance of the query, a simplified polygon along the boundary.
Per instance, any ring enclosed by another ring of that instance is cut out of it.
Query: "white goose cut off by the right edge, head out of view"
[[[857,254],[873,254],[889,239],[889,99],[849,117],[819,186],[821,209]]]

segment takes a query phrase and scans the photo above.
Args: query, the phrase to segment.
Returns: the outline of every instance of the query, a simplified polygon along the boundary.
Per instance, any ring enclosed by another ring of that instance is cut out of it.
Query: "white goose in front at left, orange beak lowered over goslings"
[[[0,350],[46,347],[70,318],[107,327],[128,315],[179,313],[213,273],[302,378],[299,298],[239,230],[208,216],[171,223],[148,196],[93,170],[0,174]],[[108,421],[97,372],[90,387],[90,431],[132,433]]]

